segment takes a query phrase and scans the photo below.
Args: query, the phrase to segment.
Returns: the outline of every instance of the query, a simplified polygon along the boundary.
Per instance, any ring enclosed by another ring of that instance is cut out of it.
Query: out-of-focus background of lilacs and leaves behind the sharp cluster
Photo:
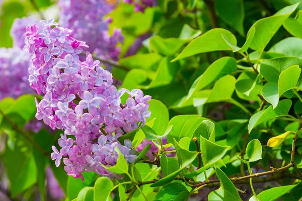
[[[194,7],[192,2],[196,4]],[[95,178],[95,175],[91,176],[86,183],[71,176],[67,178],[64,170],[55,168],[50,154],[47,155],[60,132],[54,132],[35,120],[34,97],[39,98],[39,95],[28,82],[30,58],[23,51],[23,34],[27,26],[37,24],[41,27],[40,20],[54,19],[59,26],[72,29],[72,37],[85,41],[89,46],[83,54],[93,53],[112,71],[115,85],[130,89],[138,84],[148,85],[150,76],[155,74],[162,59],[150,47],[150,37],[158,35],[163,39],[189,41],[201,32],[220,27],[234,33],[238,45],[242,46],[249,28],[257,20],[299,1],[242,1],[242,9],[239,9],[242,13],[234,12],[234,15],[238,15],[236,22],[230,22],[228,15],[223,14],[223,10],[233,8],[232,4],[223,6],[223,0],[216,2],[220,3],[220,7],[214,9],[214,1],[210,0],[0,0],[0,108],[7,108],[14,114],[25,111],[21,114],[22,120],[18,120],[22,123],[16,127],[0,116],[0,200],[72,200]],[[299,5],[299,9],[302,9],[302,5]],[[213,14],[217,16],[213,18]],[[183,35],[184,29],[191,34]],[[281,27],[267,48],[288,36],[290,34]],[[148,57],[130,57],[135,54],[147,54]],[[209,104],[201,112],[193,106],[178,106],[194,80],[212,61],[219,58],[218,54],[204,54],[198,61],[180,63],[170,82],[161,86],[161,90],[158,87],[144,87],[144,92],[161,100],[169,108],[170,118],[180,114],[203,113],[204,117],[222,121],[244,116],[230,104]],[[136,68],[148,69],[149,74],[145,75],[145,79],[134,71],[131,74],[129,70]],[[253,107],[252,104],[259,97],[253,98],[247,99],[249,107]],[[45,148],[45,155],[19,134],[23,131]],[[274,186],[275,183],[269,185]],[[258,186],[259,189],[265,187],[262,184]],[[196,200],[207,200],[207,194],[208,189],[205,189]]]

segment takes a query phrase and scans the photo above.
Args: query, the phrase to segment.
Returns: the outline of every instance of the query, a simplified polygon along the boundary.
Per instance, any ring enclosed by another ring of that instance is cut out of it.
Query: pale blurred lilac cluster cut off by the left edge
[[[29,87],[29,55],[19,48],[0,48],[0,100],[33,93]]]

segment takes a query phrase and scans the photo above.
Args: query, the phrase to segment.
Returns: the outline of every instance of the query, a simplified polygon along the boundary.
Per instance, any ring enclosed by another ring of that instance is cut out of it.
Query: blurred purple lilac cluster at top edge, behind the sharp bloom
[[[124,40],[120,29],[108,32],[110,18],[105,18],[114,9],[114,2],[108,0],[60,0],[59,23],[74,32],[71,36],[86,41],[88,50],[105,59],[118,60],[120,47]]]

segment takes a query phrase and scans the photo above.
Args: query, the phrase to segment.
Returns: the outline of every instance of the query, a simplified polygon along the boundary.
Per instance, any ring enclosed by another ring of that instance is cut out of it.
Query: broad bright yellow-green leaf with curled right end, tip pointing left
[[[232,50],[228,43],[222,38],[222,34],[231,41],[232,44],[237,45],[237,39],[230,31],[220,28],[211,29],[194,39],[175,59],[172,60],[172,62],[195,54],[219,50]]]

